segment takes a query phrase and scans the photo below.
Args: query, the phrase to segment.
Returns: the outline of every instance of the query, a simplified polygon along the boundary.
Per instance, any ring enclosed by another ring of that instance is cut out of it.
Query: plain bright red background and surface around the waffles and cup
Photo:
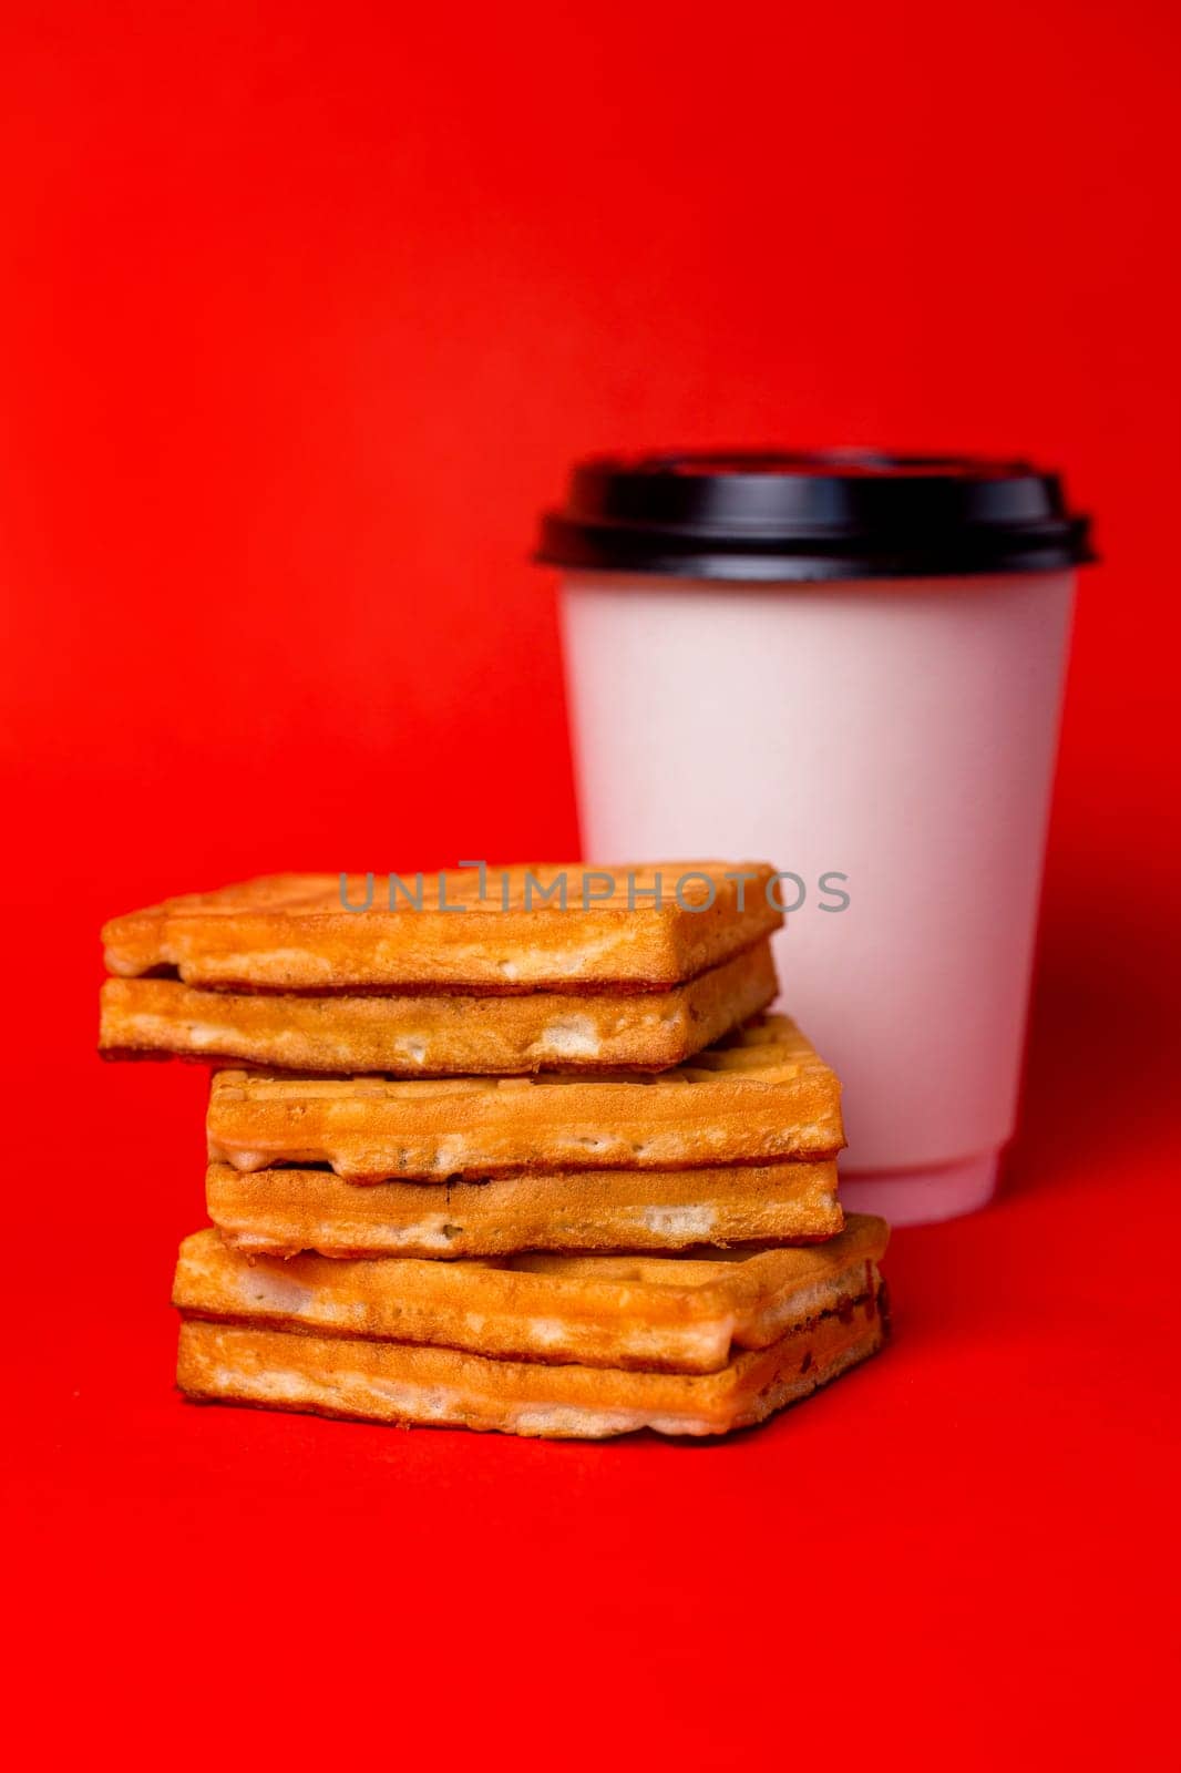
[[[1176,50],[1163,0],[5,9],[9,1667],[43,1750],[1161,1752]],[[896,1347],[731,1445],[183,1406],[204,1076],[94,1058],[101,918],[575,851],[534,514],[571,456],[741,441],[1023,450],[1098,514],[1004,1204],[899,1234]]]

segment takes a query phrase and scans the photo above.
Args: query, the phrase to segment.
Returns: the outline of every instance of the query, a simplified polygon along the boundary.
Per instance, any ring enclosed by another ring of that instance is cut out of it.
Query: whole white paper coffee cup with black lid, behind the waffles
[[[844,1082],[848,1206],[993,1193],[1014,1129],[1075,566],[1025,465],[575,470],[560,587],[583,849],[782,871],[782,1002]]]

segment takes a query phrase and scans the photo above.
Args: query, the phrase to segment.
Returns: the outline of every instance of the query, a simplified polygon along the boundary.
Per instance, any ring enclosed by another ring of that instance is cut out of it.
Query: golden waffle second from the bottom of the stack
[[[248,1261],[216,1230],[181,1245],[172,1303],[188,1317],[468,1349],[491,1358],[720,1372],[826,1312],[874,1296],[883,1220],[832,1241],[709,1259],[518,1255],[500,1262]]]

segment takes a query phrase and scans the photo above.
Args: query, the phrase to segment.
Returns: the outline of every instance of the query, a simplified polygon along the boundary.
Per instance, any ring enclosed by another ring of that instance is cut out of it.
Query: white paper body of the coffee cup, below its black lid
[[[1073,582],[562,578],[583,851],[789,876],[782,1002],[896,1223],[982,1206],[1014,1129]]]

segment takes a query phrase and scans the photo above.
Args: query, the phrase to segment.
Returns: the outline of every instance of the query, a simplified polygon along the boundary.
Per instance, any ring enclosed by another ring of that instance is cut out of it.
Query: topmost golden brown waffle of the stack
[[[644,897],[656,874],[660,904]],[[747,879],[727,879],[738,874]],[[560,876],[566,910],[557,897],[541,902],[537,890],[560,890]],[[606,879],[612,897],[590,897],[583,910],[583,892],[605,894]],[[461,869],[424,878],[422,910],[397,890],[397,910],[388,910],[390,878],[379,874],[371,908],[346,911],[339,874],[270,874],[117,917],[103,941],[112,973],[176,968],[186,984],[204,986],[637,991],[692,979],[778,929],[771,879],[771,867],[755,862],[571,862],[488,869],[481,897],[481,871]],[[443,902],[463,910],[440,908],[440,881]],[[413,878],[406,885],[415,890]],[[349,904],[365,895],[367,878],[353,876]]]

